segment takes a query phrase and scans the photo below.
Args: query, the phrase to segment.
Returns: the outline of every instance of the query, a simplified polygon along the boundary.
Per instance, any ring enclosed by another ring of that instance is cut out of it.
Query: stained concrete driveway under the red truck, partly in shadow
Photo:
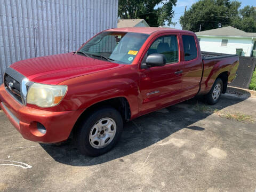
[[[100,157],[27,141],[0,112],[0,191],[255,191],[256,99],[196,99],[139,117]],[[13,162],[15,161],[15,162]],[[11,164],[11,165],[10,165]]]

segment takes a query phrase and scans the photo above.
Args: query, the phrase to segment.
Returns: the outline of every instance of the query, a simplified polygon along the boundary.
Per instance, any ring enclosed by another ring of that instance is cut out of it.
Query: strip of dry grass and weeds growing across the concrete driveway
[[[227,118],[227,119],[234,119],[238,122],[249,122],[249,123],[253,123],[254,119],[251,115],[245,115],[239,112],[231,112],[228,113],[226,111],[222,111],[219,109],[214,109],[208,105],[205,105],[204,103],[199,103],[197,102],[195,107],[195,110],[201,111],[203,113],[211,113],[211,114],[217,114],[220,117],[223,118]]]

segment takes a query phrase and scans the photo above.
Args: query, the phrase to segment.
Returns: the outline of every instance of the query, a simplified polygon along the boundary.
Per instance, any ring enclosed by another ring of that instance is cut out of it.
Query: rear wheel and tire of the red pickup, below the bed
[[[223,82],[220,78],[217,78],[212,85],[211,91],[205,95],[206,102],[209,105],[216,104],[221,96],[221,93],[223,91]]]

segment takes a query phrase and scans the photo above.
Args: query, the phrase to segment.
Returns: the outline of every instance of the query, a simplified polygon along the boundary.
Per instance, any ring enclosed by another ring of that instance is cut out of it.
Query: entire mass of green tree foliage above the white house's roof
[[[246,32],[256,32],[256,11],[245,6],[238,10],[241,3],[230,0],[201,0],[194,3],[180,18],[185,30],[199,31],[233,26]]]

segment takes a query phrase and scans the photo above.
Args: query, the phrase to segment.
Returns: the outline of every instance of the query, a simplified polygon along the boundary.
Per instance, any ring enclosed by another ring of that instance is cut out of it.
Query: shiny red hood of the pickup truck
[[[21,60],[10,67],[27,77],[29,81],[56,85],[70,78],[122,66],[124,65],[65,53]]]

